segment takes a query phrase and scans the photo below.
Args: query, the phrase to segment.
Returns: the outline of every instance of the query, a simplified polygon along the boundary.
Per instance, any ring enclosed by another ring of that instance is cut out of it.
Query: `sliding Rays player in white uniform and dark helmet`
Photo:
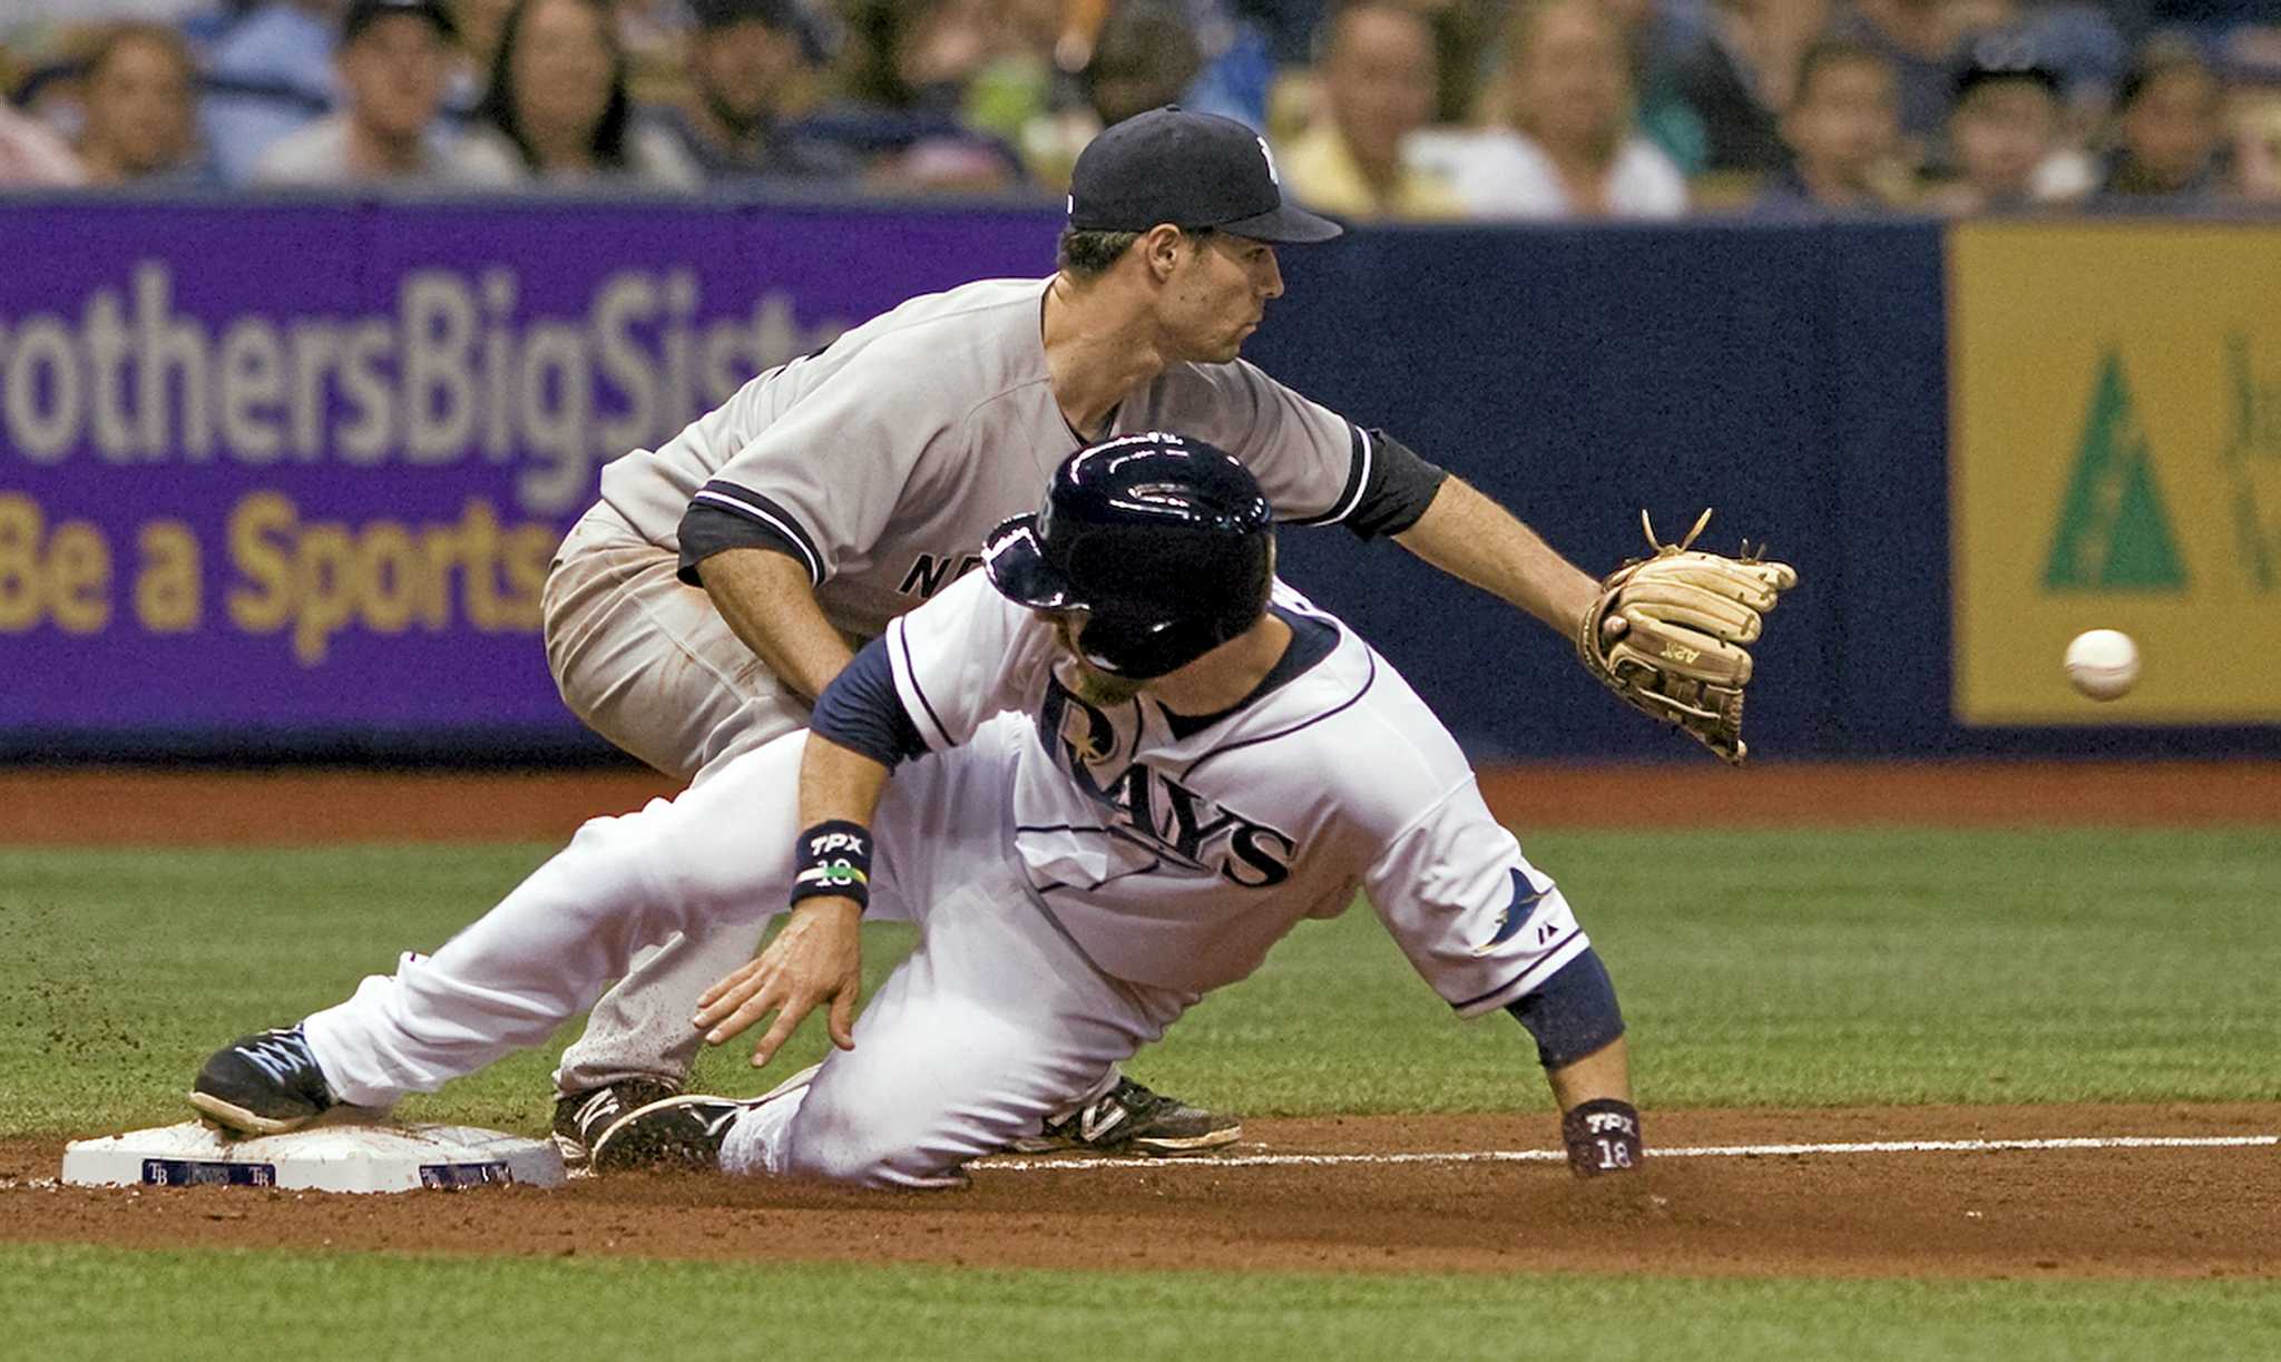
[[[1401,675],[1273,579],[1239,461],[1104,440],[983,557],[842,668],[812,732],[586,824],[436,956],[217,1052],[192,1102],[244,1132],[385,1106],[543,1043],[646,945],[748,945],[789,906],[684,1027],[719,1043],[773,1011],[764,1063],[823,1006],[837,1049],[760,1100],[623,1113],[595,1168],[956,1186],[1359,890],[1453,1008],[1528,1027],[1578,1175],[1640,1164],[1622,1015],[1569,903]],[[867,906],[922,935],[858,1020]]]

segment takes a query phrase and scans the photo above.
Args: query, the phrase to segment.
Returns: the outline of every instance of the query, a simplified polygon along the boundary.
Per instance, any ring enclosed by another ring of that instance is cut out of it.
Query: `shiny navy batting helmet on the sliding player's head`
[[[1045,509],[990,532],[983,564],[1008,600],[1086,611],[1086,662],[1150,680],[1259,621],[1275,516],[1241,463],[1150,431],[1068,456]]]

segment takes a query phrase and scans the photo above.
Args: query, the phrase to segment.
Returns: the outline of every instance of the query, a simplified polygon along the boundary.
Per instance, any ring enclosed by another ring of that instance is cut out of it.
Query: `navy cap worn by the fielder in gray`
[[[1218,228],[1255,242],[1328,242],[1344,228],[1284,201],[1275,153],[1234,119],[1166,105],[1086,144],[1070,176],[1070,226],[1145,233]]]

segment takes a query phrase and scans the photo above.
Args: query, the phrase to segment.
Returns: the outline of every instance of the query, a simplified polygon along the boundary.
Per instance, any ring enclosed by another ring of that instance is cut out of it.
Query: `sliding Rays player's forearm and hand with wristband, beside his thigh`
[[[887,767],[817,732],[801,755],[798,871],[792,913],[755,960],[698,999],[696,1027],[707,1045],[741,1033],[776,1013],[753,1045],[753,1068],[776,1059],[807,1013],[830,1006],[830,1036],[855,1049],[855,1002],[862,992],[862,910],[871,894],[871,814],[887,787]]]

